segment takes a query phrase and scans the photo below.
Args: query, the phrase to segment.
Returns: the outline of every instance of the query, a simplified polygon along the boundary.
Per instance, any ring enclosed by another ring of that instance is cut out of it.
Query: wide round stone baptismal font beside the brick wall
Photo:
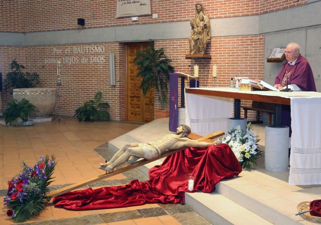
[[[57,103],[57,89],[55,88],[29,88],[13,89],[13,98],[21,101],[26,98],[35,105],[38,111],[33,112],[31,117],[48,117]]]

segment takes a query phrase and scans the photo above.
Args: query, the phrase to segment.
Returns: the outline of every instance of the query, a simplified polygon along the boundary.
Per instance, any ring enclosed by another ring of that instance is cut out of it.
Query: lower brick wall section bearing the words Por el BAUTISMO
[[[92,53],[90,47],[98,47],[103,49],[103,52]],[[76,49],[76,52],[74,49]],[[85,52],[80,53],[79,49]],[[86,52],[86,49],[89,52]],[[3,76],[9,70],[10,61],[17,58],[19,63],[28,68],[27,71],[39,73],[40,87],[57,87],[57,64],[55,60],[61,60],[62,115],[74,115],[75,109],[82,105],[84,101],[93,99],[96,92],[102,91],[103,101],[107,101],[111,106],[109,110],[111,118],[115,120],[124,119],[125,64],[124,46],[122,44],[1,47],[0,50],[4,50],[4,57],[0,58],[2,67],[0,67],[0,71],[3,71]],[[19,53],[22,55],[19,56]],[[116,86],[110,85],[109,53],[115,53]],[[87,60],[87,62],[84,63],[84,60]],[[11,95],[5,90],[3,93],[5,108],[7,102],[11,100]],[[57,114],[57,109],[54,113]]]

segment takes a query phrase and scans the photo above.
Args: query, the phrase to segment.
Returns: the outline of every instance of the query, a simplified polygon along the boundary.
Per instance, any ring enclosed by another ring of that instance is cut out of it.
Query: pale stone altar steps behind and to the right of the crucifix
[[[126,142],[159,139],[168,134],[167,127],[168,120],[155,120],[111,140],[108,148],[116,152]],[[261,139],[262,137],[264,135],[260,134]],[[154,161],[138,170],[148,177],[149,169],[159,164],[160,160]],[[186,193],[185,204],[212,224],[313,224],[295,216],[296,206],[302,201],[319,199],[320,185],[289,186],[288,172],[269,172],[264,169],[262,162],[260,164],[254,171],[243,171],[234,179],[220,181],[216,185],[216,191],[211,194]]]

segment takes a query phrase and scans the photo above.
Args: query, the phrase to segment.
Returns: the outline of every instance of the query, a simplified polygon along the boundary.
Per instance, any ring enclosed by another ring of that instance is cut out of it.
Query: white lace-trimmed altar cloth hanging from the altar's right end
[[[291,98],[290,185],[321,184],[321,99]]]

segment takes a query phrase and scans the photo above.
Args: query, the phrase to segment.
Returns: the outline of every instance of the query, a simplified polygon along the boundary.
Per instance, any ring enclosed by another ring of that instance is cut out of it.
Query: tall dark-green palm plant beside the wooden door
[[[148,46],[144,50],[137,52],[134,61],[138,65],[139,72],[137,76],[142,78],[140,88],[143,90],[144,95],[151,88],[155,88],[158,99],[161,102],[161,110],[155,110],[156,114],[164,111],[165,105],[168,104],[169,73],[174,71],[174,67],[170,65],[172,60],[167,58],[164,48],[156,50],[154,46]],[[165,111],[167,111],[168,116],[168,110]],[[156,118],[161,117],[157,115]]]

